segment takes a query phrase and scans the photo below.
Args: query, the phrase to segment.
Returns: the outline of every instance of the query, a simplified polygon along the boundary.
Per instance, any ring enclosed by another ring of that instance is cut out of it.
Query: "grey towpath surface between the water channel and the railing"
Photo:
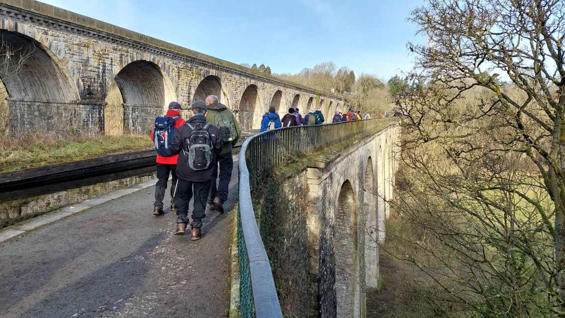
[[[199,241],[152,214],[151,187],[3,243],[0,317],[226,317],[236,197],[234,162],[226,212],[206,211]]]

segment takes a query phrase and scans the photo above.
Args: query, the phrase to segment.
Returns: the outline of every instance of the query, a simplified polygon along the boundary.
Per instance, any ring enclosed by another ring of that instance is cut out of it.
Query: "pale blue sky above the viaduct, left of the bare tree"
[[[423,0],[44,0],[233,63],[298,73],[324,61],[388,80],[411,68],[406,18]],[[156,5],[158,4],[158,5]]]

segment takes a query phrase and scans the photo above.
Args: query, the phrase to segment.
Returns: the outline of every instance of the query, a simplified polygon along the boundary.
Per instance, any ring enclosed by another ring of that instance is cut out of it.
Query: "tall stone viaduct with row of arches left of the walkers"
[[[33,0],[0,2],[0,125],[145,133],[173,100],[214,94],[243,129],[269,106],[341,109],[341,97]],[[301,111],[302,111],[301,110]]]

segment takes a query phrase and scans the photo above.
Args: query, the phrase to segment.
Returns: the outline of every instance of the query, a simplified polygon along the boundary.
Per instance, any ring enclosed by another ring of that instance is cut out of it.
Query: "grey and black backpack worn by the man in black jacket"
[[[186,123],[192,130],[189,134],[185,148],[182,150],[188,162],[190,169],[194,171],[206,170],[210,168],[214,154],[212,153],[212,140],[208,133],[208,127],[211,125],[206,123],[204,127],[196,124],[195,127]]]

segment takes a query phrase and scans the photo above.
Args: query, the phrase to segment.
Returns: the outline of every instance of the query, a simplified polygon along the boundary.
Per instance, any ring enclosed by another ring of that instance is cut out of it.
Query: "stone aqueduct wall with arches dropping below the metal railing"
[[[363,317],[366,287],[379,281],[399,133],[393,121],[299,167],[283,164],[274,186],[279,201],[264,203],[270,191],[255,198],[266,204],[261,211],[276,210],[260,226],[274,240],[264,242],[284,316]]]

